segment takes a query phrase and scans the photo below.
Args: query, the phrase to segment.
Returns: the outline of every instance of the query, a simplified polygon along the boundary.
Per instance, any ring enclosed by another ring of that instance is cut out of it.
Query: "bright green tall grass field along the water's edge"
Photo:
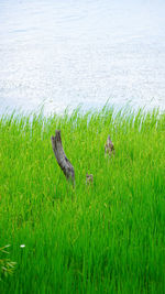
[[[54,157],[55,129],[75,188]],[[0,166],[0,248],[16,262],[0,293],[164,292],[164,113],[3,116]]]

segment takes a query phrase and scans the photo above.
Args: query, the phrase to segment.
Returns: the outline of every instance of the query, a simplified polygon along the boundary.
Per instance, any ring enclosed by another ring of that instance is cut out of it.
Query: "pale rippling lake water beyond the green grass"
[[[0,112],[165,109],[164,0],[0,0]]]

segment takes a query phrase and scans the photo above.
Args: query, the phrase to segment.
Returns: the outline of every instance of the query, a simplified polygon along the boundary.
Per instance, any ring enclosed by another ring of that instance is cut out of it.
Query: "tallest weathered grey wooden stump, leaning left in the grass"
[[[63,150],[59,130],[55,131],[55,137],[52,135],[51,141],[52,141],[52,148],[53,148],[53,151],[54,151],[54,154],[55,154],[55,157],[57,160],[58,165],[61,166],[66,178],[68,181],[72,181],[73,184],[75,184],[75,171],[74,171],[72,163],[66,157],[65,152]]]

